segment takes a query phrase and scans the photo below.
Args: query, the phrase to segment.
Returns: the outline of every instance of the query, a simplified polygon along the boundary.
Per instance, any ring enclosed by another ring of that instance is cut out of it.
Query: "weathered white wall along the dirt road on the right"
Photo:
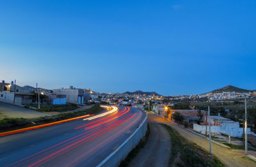
[[[193,124],[193,130],[199,133],[205,134],[206,126],[200,126],[198,124]],[[209,126],[207,126],[207,134],[209,132]],[[238,127],[236,125],[228,126],[227,124],[222,126],[211,126],[211,134],[227,134],[232,137],[242,138],[243,127]],[[247,133],[251,134],[251,129],[247,128]]]

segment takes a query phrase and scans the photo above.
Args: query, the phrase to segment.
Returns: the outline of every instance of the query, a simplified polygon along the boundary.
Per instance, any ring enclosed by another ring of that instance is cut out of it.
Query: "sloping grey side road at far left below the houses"
[[[47,113],[36,112],[34,110],[29,110],[21,106],[11,105],[9,103],[0,102],[0,117],[9,117],[9,118],[36,118],[44,117],[49,115]]]

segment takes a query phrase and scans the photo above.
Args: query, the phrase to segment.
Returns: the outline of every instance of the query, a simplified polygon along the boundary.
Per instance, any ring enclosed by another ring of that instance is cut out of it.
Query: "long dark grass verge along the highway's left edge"
[[[65,119],[71,119],[74,117],[79,117],[85,114],[95,114],[95,113],[102,112],[102,110],[104,109],[101,108],[99,105],[95,105],[83,111],[60,113],[58,115],[39,117],[36,119],[4,118],[4,119],[0,119],[0,132],[20,129],[24,127],[38,126],[41,124],[47,124],[47,123],[55,122],[58,120],[65,120]]]

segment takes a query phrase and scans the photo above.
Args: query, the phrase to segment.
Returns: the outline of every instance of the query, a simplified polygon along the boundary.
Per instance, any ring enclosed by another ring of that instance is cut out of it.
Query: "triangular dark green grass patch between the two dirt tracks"
[[[195,143],[188,142],[172,127],[166,124],[162,125],[172,138],[169,166],[224,166],[213,154],[209,154],[209,152]]]

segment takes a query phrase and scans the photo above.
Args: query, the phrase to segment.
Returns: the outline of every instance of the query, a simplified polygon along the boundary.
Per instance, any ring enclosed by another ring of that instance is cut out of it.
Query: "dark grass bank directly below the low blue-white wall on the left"
[[[38,105],[29,105],[37,108]],[[25,106],[28,107],[28,106]],[[40,105],[40,109],[35,109],[38,112],[67,112],[71,110],[76,110],[79,105],[74,103],[67,103],[66,105]]]

